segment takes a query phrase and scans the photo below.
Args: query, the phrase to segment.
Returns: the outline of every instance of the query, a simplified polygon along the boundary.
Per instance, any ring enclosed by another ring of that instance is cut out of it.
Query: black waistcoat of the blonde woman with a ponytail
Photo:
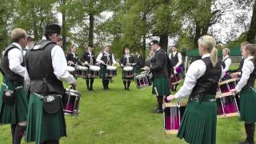
[[[222,66],[218,63],[213,67],[210,62],[210,57],[202,58],[202,62],[206,64],[206,73],[198,78],[190,98],[198,95],[213,94],[215,95],[218,88],[218,81],[222,75]]]

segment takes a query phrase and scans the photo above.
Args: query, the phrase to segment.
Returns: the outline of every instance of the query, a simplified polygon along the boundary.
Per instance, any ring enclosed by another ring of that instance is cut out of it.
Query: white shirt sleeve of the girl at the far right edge
[[[253,59],[253,56],[250,56],[245,59],[245,62],[242,66],[242,77],[240,78],[240,81],[238,82],[238,85],[235,86],[235,90],[241,91],[244,86],[246,86],[246,83],[248,79],[250,78],[250,74],[254,71],[254,63],[250,61],[250,59]]]

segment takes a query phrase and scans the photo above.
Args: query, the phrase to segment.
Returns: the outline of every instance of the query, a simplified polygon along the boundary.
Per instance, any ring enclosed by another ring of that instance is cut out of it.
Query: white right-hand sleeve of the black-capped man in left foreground
[[[60,46],[54,46],[51,50],[51,58],[54,74],[59,80],[69,82],[70,84],[76,82],[74,77],[67,70],[65,54]]]

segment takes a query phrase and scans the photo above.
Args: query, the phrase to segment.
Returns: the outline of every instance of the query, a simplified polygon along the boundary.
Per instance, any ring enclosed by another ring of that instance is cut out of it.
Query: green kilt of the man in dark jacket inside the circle
[[[167,77],[154,78],[152,94],[157,94],[158,96],[166,96],[170,94],[169,81]]]

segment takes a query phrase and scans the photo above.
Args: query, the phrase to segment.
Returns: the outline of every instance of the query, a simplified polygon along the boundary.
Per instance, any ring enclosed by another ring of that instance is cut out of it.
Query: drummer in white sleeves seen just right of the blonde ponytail
[[[223,68],[224,73],[225,73],[224,79],[228,79],[229,76],[228,76],[227,72],[230,70],[230,65],[231,65],[230,49],[229,48],[224,48],[222,50],[222,55],[223,55],[222,68]]]

